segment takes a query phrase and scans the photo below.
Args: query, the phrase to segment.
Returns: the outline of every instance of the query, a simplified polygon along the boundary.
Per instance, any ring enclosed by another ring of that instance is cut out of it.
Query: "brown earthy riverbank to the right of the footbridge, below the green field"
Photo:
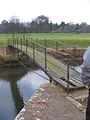
[[[58,51],[53,49],[48,49],[47,53],[54,56],[57,59],[62,59],[63,62],[68,62],[69,55],[69,63],[71,66],[81,65],[83,61],[83,54],[85,52],[84,48],[66,48],[59,49]]]

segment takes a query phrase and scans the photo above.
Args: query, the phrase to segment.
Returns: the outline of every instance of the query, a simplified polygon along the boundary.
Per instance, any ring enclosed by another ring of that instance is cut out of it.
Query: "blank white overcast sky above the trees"
[[[1,0],[0,22],[18,16],[27,22],[45,15],[53,23],[87,22],[90,24],[90,0]]]

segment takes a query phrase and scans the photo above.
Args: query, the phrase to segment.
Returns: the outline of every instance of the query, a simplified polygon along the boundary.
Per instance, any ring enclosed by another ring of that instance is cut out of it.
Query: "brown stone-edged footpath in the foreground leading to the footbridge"
[[[42,85],[15,120],[85,120],[85,107],[74,98],[86,94],[78,90],[67,95],[60,86]]]

